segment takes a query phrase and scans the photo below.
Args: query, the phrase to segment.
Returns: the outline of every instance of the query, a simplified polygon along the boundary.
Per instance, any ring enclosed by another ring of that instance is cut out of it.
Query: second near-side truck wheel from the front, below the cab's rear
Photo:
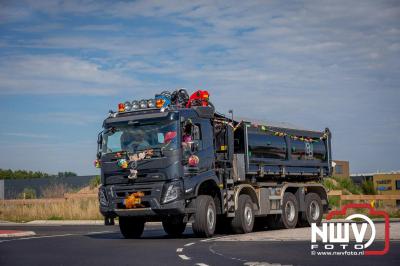
[[[237,234],[250,233],[254,226],[253,202],[249,195],[240,195],[235,217],[231,222],[233,232]]]

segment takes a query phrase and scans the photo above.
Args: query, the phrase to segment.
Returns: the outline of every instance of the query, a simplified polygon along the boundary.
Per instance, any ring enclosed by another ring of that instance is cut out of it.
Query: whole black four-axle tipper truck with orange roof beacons
[[[179,236],[294,228],[328,211],[331,133],[222,115],[206,91],[121,103],[98,135],[100,211],[125,238],[161,221]]]

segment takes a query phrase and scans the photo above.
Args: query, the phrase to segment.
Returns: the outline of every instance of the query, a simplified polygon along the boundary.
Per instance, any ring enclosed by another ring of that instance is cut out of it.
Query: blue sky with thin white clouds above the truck
[[[399,85],[398,1],[0,2],[0,168],[96,173],[109,109],[185,87],[399,170]]]

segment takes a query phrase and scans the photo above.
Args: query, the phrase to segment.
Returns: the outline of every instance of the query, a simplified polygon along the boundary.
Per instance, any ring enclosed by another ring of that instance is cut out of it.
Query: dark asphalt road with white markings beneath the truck
[[[165,235],[159,224],[142,239],[123,239],[118,226],[13,226],[34,237],[0,239],[0,265],[400,265],[400,242],[384,256],[313,256],[309,241],[221,241]],[[382,243],[378,243],[381,245]]]

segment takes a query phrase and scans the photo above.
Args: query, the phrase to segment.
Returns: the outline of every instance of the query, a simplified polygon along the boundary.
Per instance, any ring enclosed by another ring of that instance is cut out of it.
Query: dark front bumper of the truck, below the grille
[[[151,217],[153,220],[169,215],[184,215],[188,213],[184,199],[178,199],[161,204],[163,185],[165,183],[134,184],[127,186],[106,186],[100,189],[105,193],[107,206],[100,204],[100,212],[105,217],[138,216]],[[125,197],[131,193],[141,191],[143,208],[126,209],[123,205]]]

